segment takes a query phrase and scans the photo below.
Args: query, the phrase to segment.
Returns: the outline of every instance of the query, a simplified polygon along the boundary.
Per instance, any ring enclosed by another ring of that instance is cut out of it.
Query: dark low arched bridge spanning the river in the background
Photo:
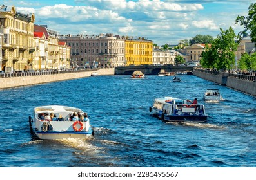
[[[188,66],[172,66],[170,64],[164,66],[143,65],[143,66],[119,66],[115,67],[115,75],[132,75],[134,71],[141,71],[145,75],[157,75],[161,69],[166,72],[192,71],[193,67]]]

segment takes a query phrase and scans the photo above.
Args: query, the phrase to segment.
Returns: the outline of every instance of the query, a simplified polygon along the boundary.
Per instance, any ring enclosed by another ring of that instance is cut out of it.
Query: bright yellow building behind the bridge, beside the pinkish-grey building
[[[144,38],[128,38],[125,40],[126,66],[153,64],[153,42]]]

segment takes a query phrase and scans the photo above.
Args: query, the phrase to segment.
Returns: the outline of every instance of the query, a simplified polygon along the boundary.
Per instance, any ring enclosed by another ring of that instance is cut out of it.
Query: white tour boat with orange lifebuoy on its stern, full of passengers
[[[50,118],[53,114],[54,118]],[[84,116],[72,119],[72,114]],[[84,117],[84,118],[83,118]],[[30,132],[42,140],[63,138],[86,138],[94,136],[90,120],[81,109],[61,105],[46,105],[35,107],[29,116]]]

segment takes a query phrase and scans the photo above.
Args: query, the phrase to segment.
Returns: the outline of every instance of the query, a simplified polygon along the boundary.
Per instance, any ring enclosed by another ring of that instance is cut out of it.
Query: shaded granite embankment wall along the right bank
[[[255,76],[230,75],[228,73],[200,70],[194,70],[193,75],[210,80],[220,85],[226,85],[226,87],[230,87],[237,91],[256,96]]]

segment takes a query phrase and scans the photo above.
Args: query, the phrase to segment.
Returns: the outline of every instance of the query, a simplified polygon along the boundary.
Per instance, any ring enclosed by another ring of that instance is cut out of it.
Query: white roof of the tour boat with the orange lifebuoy
[[[68,107],[68,106],[62,106],[62,105],[45,105],[40,107],[35,107],[34,111],[36,113],[43,113],[45,111],[47,112],[80,112],[84,113],[81,109],[77,107]]]

